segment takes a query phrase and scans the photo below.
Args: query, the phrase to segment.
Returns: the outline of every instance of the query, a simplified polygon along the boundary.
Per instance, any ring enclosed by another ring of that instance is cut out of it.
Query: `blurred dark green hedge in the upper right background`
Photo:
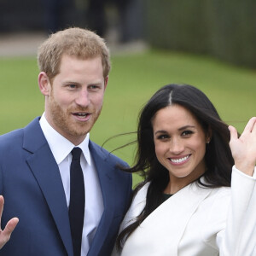
[[[154,47],[207,53],[256,67],[255,0],[145,0],[147,38]]]

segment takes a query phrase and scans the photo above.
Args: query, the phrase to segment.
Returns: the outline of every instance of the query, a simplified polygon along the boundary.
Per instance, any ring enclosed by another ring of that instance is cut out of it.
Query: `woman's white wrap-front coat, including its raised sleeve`
[[[255,183],[256,177],[234,166],[231,188],[207,189],[189,184],[143,221],[125,241],[121,255],[256,255]],[[147,190],[148,183],[133,199],[120,230],[143,211]]]

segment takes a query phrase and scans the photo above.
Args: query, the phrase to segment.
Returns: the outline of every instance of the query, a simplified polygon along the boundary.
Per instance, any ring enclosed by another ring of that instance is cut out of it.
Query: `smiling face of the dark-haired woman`
[[[170,183],[191,183],[205,172],[208,138],[194,115],[180,105],[160,109],[152,119],[157,159]]]

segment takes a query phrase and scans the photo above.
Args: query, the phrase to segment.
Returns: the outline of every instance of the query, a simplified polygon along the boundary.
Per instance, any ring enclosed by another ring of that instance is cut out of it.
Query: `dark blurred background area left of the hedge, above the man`
[[[143,37],[143,0],[1,0],[0,33],[82,26],[121,43]],[[1,36],[1,34],[0,34]]]

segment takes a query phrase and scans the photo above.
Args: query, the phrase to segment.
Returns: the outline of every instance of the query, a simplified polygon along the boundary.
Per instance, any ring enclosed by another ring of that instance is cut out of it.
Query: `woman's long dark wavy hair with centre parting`
[[[161,108],[172,104],[188,109],[199,121],[206,134],[207,131],[211,131],[211,141],[207,144],[205,154],[207,168],[203,174],[206,183],[202,183],[200,177],[197,183],[207,188],[230,187],[231,168],[234,165],[229,147],[230,131],[228,125],[220,119],[212,102],[201,90],[189,84],[168,84],[160,88],[139,115],[135,165],[130,169],[125,169],[126,172],[139,172],[144,177],[143,183],[137,186],[134,195],[145,183],[150,182],[146,206],[135,222],[119,234],[118,249],[121,249],[123,241],[163,201],[162,194],[169,183],[169,172],[160,164],[154,152],[152,119]]]

